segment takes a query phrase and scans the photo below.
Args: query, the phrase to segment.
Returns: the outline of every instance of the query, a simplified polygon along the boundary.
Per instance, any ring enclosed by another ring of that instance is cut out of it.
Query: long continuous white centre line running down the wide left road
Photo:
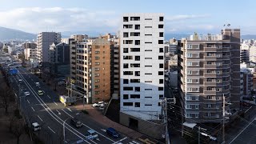
[[[60,123],[62,125],[62,123],[64,122],[62,120],[62,118],[58,117],[57,114],[54,114],[54,112],[52,110],[50,110],[49,106],[46,105],[46,103],[42,100],[42,98],[40,98],[37,94],[37,92],[32,88],[32,86],[30,86],[29,82],[26,81],[26,79],[22,76],[22,74],[18,73],[24,80],[25,80],[25,84],[26,86],[28,86],[28,88],[31,90],[31,92],[34,94],[34,98],[36,98],[38,100],[38,102],[42,105],[42,107],[48,112],[48,114],[50,114],[50,116],[52,118],[54,118],[58,123]],[[70,130],[71,133],[73,133],[74,135],[76,135],[78,138],[81,138],[84,140],[84,142],[87,142],[90,144],[90,142],[86,141],[85,139],[85,135],[80,133],[78,130],[75,130],[72,126],[70,126],[69,124],[66,124],[66,129]],[[78,134],[77,134],[78,133]],[[113,141],[114,142],[114,141]]]

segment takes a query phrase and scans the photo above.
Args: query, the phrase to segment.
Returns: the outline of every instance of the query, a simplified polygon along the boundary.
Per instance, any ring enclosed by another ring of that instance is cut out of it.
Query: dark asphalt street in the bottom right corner
[[[256,118],[238,133],[229,144],[254,144],[256,143]]]

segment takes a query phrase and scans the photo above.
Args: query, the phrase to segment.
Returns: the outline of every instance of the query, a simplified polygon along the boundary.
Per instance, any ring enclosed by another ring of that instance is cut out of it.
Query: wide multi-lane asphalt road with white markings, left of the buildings
[[[106,127],[92,118],[81,114],[75,109],[66,108],[58,100],[58,95],[50,90],[37,76],[28,70],[18,68],[18,75],[10,76],[15,93],[20,96],[22,113],[29,123],[38,122],[42,130],[34,132],[46,143],[63,143],[63,122],[65,123],[65,143],[136,143],[124,135],[120,138],[111,138],[105,132]],[[22,82],[18,82],[22,79]],[[40,86],[35,86],[40,82]],[[22,90],[19,90],[22,89]],[[43,96],[38,95],[38,90],[44,92]],[[30,96],[25,97],[24,92],[29,91]],[[78,118],[83,123],[82,128],[75,128],[70,125],[70,118]],[[87,130],[95,130],[98,133],[98,140],[86,139]]]

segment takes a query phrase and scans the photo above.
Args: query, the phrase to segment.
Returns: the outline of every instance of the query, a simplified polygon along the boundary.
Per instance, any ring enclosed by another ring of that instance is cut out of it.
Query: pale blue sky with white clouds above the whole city
[[[123,13],[163,13],[170,34],[219,34],[224,24],[256,34],[255,0],[0,0],[0,26],[41,31],[118,32]]]

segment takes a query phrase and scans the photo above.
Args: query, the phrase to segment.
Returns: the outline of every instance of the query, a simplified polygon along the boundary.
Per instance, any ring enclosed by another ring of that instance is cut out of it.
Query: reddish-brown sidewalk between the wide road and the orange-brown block
[[[76,108],[77,110],[83,110],[82,104],[77,104],[77,106],[74,106],[74,108]],[[118,130],[120,133],[125,134],[131,139],[137,139],[142,137],[143,135],[135,130],[131,130],[126,126],[122,126],[117,122],[111,121],[109,118],[106,118],[106,116],[102,115],[101,111],[94,109],[94,107],[92,107],[91,105],[85,105],[85,109],[89,113],[88,115],[90,116],[90,118],[93,118],[94,121],[99,122],[107,127],[113,127],[115,130]]]

